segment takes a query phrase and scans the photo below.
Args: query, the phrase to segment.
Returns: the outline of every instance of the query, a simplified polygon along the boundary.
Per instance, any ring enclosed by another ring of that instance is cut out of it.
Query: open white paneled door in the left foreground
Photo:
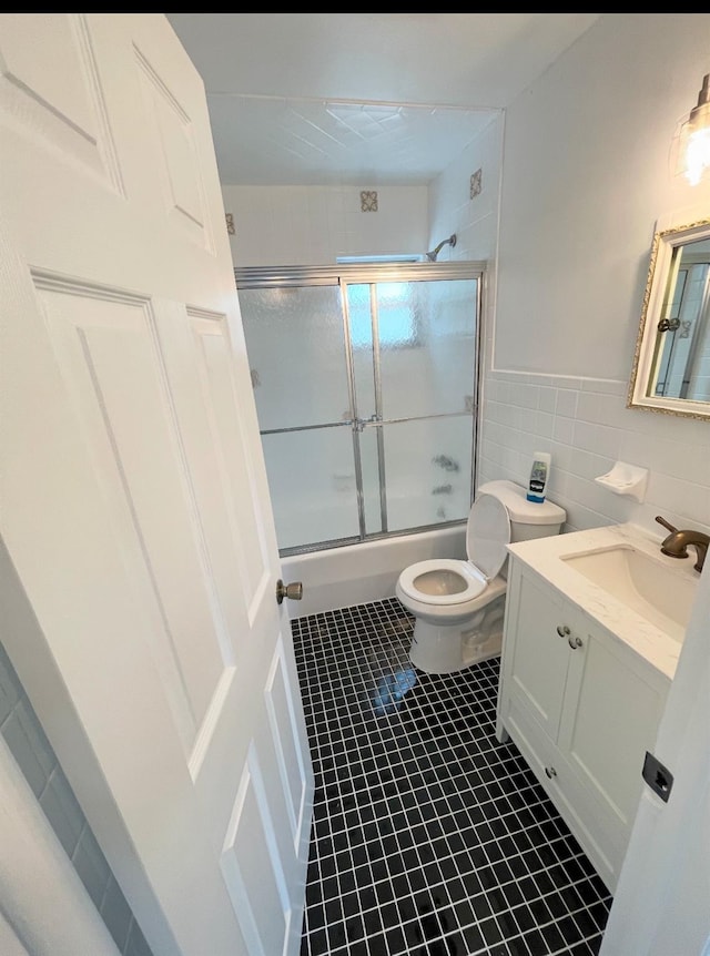
[[[0,70],[2,640],[155,956],[290,956],[313,774],[203,84],[161,13],[1,14]]]

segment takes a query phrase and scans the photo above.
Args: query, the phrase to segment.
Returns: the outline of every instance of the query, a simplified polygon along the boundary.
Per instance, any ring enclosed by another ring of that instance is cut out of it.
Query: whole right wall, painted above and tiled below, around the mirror
[[[506,115],[478,478],[550,451],[568,528],[710,530],[710,424],[625,407],[656,221],[710,215],[669,169],[709,70],[710,14],[604,13]],[[650,470],[645,504],[595,484],[617,459]]]

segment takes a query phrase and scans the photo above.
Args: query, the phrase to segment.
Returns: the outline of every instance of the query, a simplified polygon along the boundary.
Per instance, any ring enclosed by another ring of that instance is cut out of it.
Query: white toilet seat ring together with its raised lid
[[[417,561],[399,574],[403,593],[429,607],[463,604],[481,594],[508,555],[510,517],[493,495],[479,495],[468,515],[468,560],[433,558]]]

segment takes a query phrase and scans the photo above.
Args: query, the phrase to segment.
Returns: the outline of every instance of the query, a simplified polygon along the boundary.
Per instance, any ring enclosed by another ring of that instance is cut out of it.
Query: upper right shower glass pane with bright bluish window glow
[[[377,284],[385,420],[471,411],[478,279]]]

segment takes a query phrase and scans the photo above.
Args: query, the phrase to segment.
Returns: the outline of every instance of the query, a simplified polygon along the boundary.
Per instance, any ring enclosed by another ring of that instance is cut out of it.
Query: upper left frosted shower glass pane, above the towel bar
[[[339,286],[241,288],[262,431],[349,418]]]

